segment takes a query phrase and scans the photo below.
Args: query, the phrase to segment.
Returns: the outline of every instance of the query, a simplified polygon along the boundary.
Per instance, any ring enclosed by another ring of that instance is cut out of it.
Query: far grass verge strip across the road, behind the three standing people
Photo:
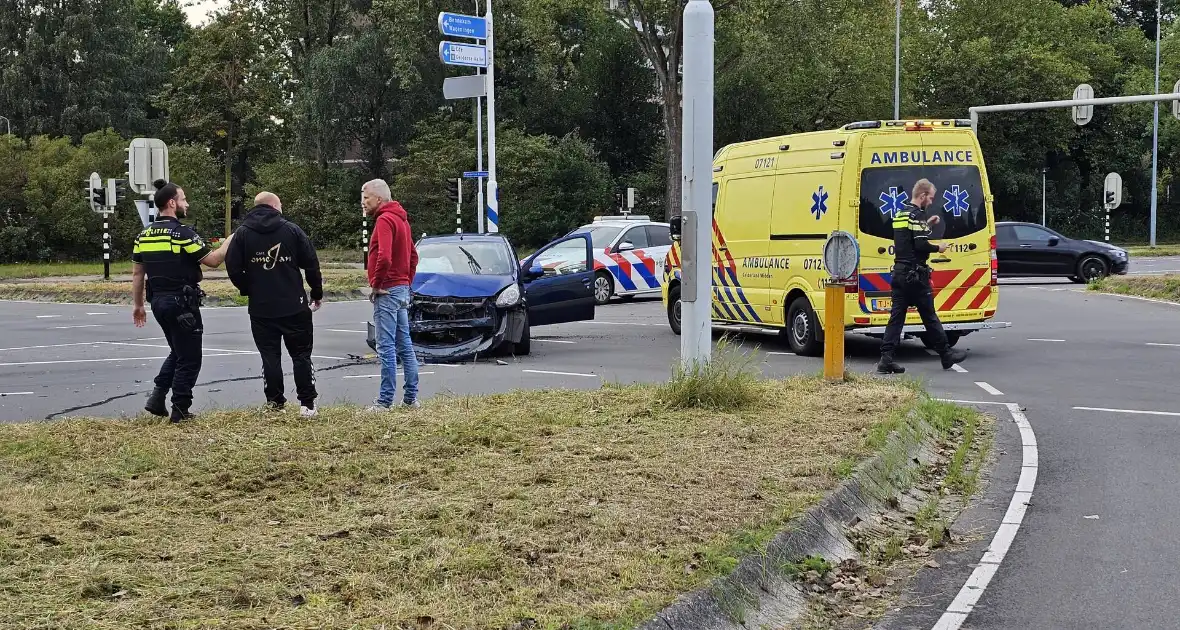
[[[327,301],[358,300],[361,289],[368,284],[363,270],[324,269],[323,294]],[[201,283],[206,298],[205,306],[245,306],[247,298],[225,278],[205,280]],[[97,304],[130,304],[131,282],[101,280],[87,282],[25,282],[0,284],[0,300],[35,300],[44,302],[78,302]]]

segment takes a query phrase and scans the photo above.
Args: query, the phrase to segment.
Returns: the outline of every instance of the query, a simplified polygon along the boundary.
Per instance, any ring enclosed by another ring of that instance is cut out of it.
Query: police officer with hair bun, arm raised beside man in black
[[[143,328],[144,288],[151,313],[164,330],[171,352],[156,376],[156,387],[144,409],[158,416],[169,415],[164,399],[172,391],[171,420],[179,422],[192,418],[192,386],[201,374],[201,265],[221,267],[229,242],[214,251],[197,232],[181,223],[189,215],[184,190],[163,179],[156,183],[156,208],[159,217],[136,237],[131,260],[135,262],[131,291],[135,298],[133,319]],[[146,276],[146,278],[145,278]]]

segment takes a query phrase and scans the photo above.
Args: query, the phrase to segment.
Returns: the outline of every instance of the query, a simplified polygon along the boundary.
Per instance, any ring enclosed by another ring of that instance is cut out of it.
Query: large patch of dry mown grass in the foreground
[[[628,626],[765,547],[918,400],[742,382],[725,408],[608,386],[2,426],[0,610],[8,628]]]

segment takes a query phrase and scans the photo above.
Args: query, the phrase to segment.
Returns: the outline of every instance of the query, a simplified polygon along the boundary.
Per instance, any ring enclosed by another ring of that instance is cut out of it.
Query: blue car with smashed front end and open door
[[[421,360],[527,355],[532,327],[594,320],[594,255],[588,235],[555,241],[522,263],[509,239],[498,234],[432,236],[417,247],[409,336]],[[583,249],[584,260],[563,256],[560,264],[538,262],[557,247]],[[372,322],[368,344],[376,349]]]

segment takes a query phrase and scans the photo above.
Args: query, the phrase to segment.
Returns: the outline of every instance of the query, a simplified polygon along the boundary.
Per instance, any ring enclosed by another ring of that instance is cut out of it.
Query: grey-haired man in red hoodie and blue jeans
[[[402,405],[418,407],[418,357],[409,340],[409,286],[418,269],[418,250],[409,231],[409,218],[393,201],[389,184],[373,179],[361,188],[365,215],[375,217],[369,239],[368,281],[373,293],[373,327],[376,354],[381,360],[381,391],[371,411],[387,411],[398,389],[398,362],[406,374]]]

